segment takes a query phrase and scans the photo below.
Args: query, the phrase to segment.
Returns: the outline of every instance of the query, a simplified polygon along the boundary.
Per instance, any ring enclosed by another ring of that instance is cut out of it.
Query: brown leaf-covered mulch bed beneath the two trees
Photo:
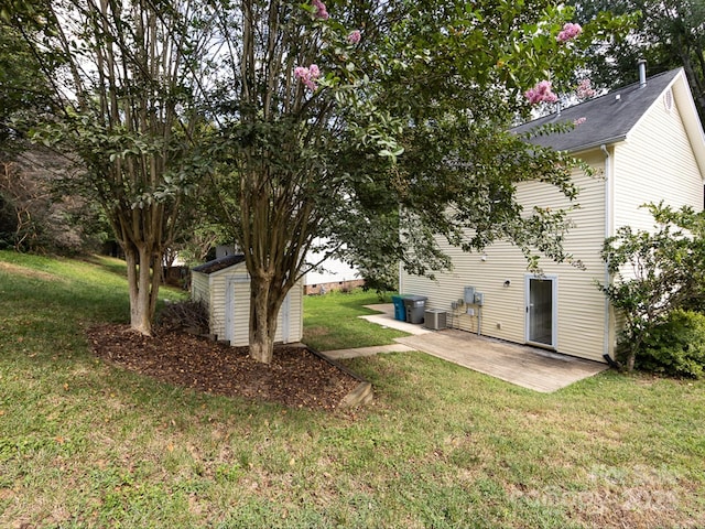
[[[230,347],[181,332],[143,336],[128,325],[88,330],[100,358],[159,380],[229,397],[290,408],[334,410],[360,382],[305,347],[278,345],[271,365]]]

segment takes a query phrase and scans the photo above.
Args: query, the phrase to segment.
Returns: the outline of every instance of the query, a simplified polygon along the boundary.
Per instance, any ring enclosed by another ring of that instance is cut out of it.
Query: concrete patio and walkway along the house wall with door
[[[608,369],[606,364],[519,344],[477,336],[457,330],[431,331],[394,320],[391,303],[367,305],[381,314],[360,316],[369,322],[410,333],[397,345],[340,349],[324,353],[329,358],[354,358],[378,353],[420,350],[459,366],[541,392],[552,392]]]

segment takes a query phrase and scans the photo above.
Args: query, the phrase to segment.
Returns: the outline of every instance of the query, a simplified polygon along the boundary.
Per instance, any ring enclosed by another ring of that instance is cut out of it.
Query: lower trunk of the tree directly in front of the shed
[[[250,280],[250,356],[263,364],[271,364],[274,356],[276,317],[285,295],[281,290],[267,278]]]

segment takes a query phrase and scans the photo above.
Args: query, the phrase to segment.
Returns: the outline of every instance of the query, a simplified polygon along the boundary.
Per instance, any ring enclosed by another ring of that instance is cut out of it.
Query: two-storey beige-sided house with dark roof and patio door
[[[400,292],[426,296],[426,309],[446,311],[455,328],[592,360],[614,358],[619,319],[596,287],[610,280],[600,259],[603,242],[620,226],[652,229],[643,204],[703,209],[705,138],[682,68],[647,78],[642,66],[639,83],[517,131],[577,120],[583,122],[573,130],[535,141],[568,151],[595,170],[592,176],[573,175],[579,208],[571,213],[573,227],[564,242],[584,269],[544,259],[543,274],[535,276],[508,242],[482,253],[446,244],[453,270],[437,272],[435,280],[402,272]],[[570,205],[538,182],[520,184],[518,198],[525,208]]]

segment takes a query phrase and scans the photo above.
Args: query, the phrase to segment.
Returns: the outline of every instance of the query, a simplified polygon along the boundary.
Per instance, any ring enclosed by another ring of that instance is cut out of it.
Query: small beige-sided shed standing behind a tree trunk
[[[289,291],[276,320],[276,343],[300,342],[303,335],[303,280]],[[210,333],[232,346],[249,344],[250,274],[245,256],[226,255],[192,270],[191,295],[208,309]]]

